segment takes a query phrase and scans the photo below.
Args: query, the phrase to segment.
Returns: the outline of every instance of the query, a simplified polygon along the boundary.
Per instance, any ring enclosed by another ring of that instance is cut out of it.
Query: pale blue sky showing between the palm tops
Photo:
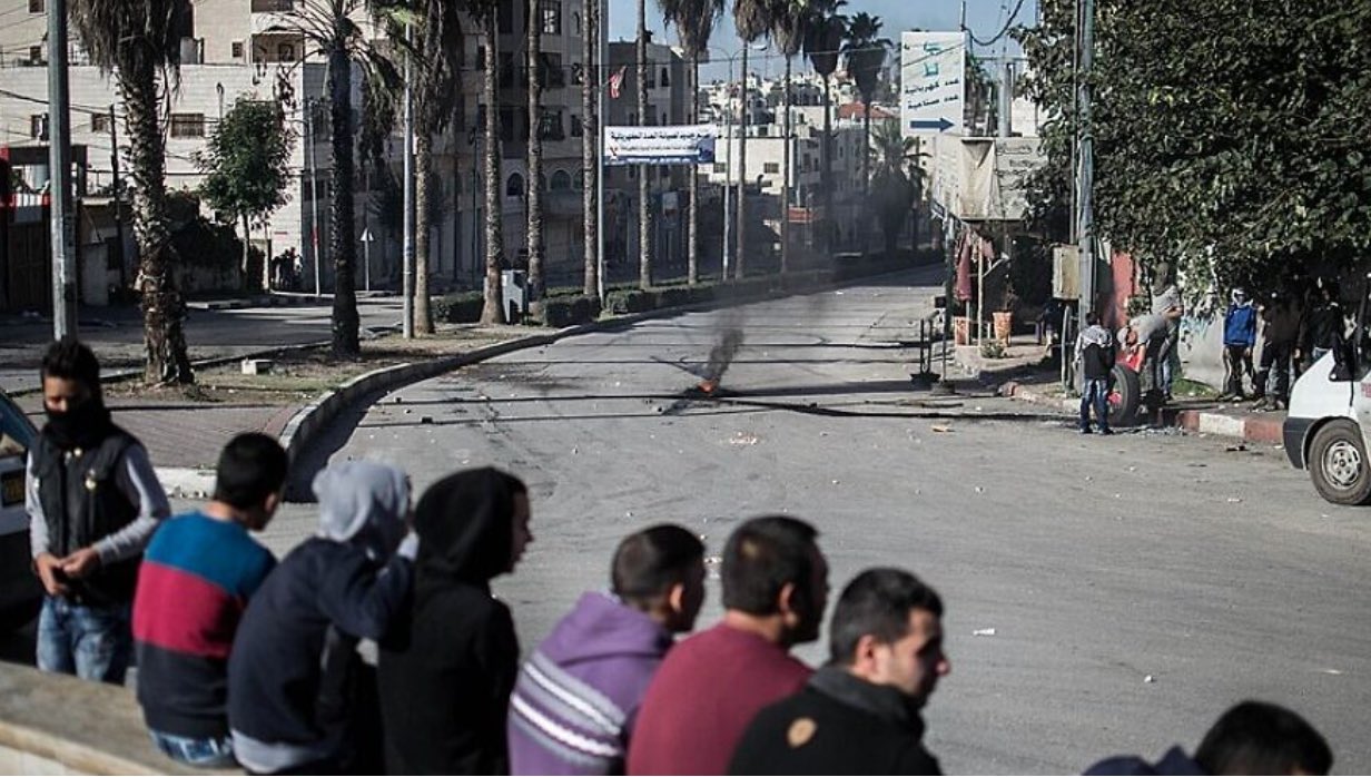
[[[1015,10],[1019,0],[965,0],[967,7],[967,26],[971,27],[972,34],[982,40],[990,40],[995,33],[1004,29],[1008,15]],[[716,27],[714,36],[710,38],[709,45],[714,48],[714,59],[724,59],[728,53],[738,51],[738,34],[733,32],[733,18],[732,18],[732,0],[725,0],[725,18],[723,23]],[[847,7],[845,12],[858,14],[868,12],[880,16],[884,26],[882,34],[890,40],[899,44],[899,32],[912,30],[921,27],[925,30],[957,30],[961,23],[961,8],[962,0],[847,0]],[[1038,0],[1023,0],[1019,8],[1019,16],[1016,23],[1032,25],[1034,18],[1038,14]],[[638,3],[636,0],[609,0],[609,16],[610,40],[633,40],[638,30]],[[647,23],[648,29],[653,30],[653,40],[655,41],[669,41],[676,42],[676,32],[664,32],[662,15],[658,10],[655,0],[647,0]],[[1008,44],[1005,51],[1001,52],[1001,44],[986,49],[986,47],[975,47],[978,55],[984,56],[999,56],[1006,53],[1015,56],[1019,53],[1019,47],[1004,38]],[[723,51],[724,55],[720,55]],[[750,58],[758,59],[758,58]],[[779,74],[784,69],[784,62],[779,58],[762,58],[760,63],[764,74],[776,73]],[[799,62],[797,60],[797,66]],[[707,82],[714,78],[723,78],[727,75],[724,66],[716,66],[713,69],[706,69],[701,73],[701,81]]]

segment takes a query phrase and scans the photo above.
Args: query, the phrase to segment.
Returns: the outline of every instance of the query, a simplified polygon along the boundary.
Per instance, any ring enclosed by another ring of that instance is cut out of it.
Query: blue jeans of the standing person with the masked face
[[[133,652],[129,606],[89,607],[60,596],[43,600],[38,669],[123,685]]]

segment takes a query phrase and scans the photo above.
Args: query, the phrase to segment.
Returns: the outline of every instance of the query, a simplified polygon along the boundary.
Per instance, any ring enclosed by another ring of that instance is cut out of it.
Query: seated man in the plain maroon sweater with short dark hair
[[[724,774],[757,713],[813,670],[790,648],[818,639],[828,562],[809,523],[773,515],[724,545],[724,619],[666,654],[628,743],[629,774]]]

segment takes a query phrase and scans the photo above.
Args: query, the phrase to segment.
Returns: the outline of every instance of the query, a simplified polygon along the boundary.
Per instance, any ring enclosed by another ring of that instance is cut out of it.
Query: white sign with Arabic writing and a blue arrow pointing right
[[[960,136],[965,33],[905,33],[899,41],[899,126],[905,136]]]

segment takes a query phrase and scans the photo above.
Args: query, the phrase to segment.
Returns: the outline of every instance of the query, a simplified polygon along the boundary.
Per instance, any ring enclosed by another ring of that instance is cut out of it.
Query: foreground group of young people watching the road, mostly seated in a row
[[[584,593],[520,663],[491,581],[533,541],[525,485],[485,467],[415,502],[406,474],[351,460],[315,476],[318,532],[277,562],[265,529],[285,451],[241,434],[213,497],[169,517],[144,448],[112,423],[95,355],[43,362],[48,422],[29,462],[38,666],[122,684],[154,745],[202,767],[358,774],[938,774],[921,711],[951,665],[943,603],[875,567],[842,589],[828,662],[828,563],[787,515],[743,522],[721,552],[723,618],[692,636],[705,545],[686,528],[624,537],[609,589]],[[377,644],[374,666],[362,640]],[[1323,774],[1294,713],[1243,703],[1194,756],[1104,761],[1100,774]]]

